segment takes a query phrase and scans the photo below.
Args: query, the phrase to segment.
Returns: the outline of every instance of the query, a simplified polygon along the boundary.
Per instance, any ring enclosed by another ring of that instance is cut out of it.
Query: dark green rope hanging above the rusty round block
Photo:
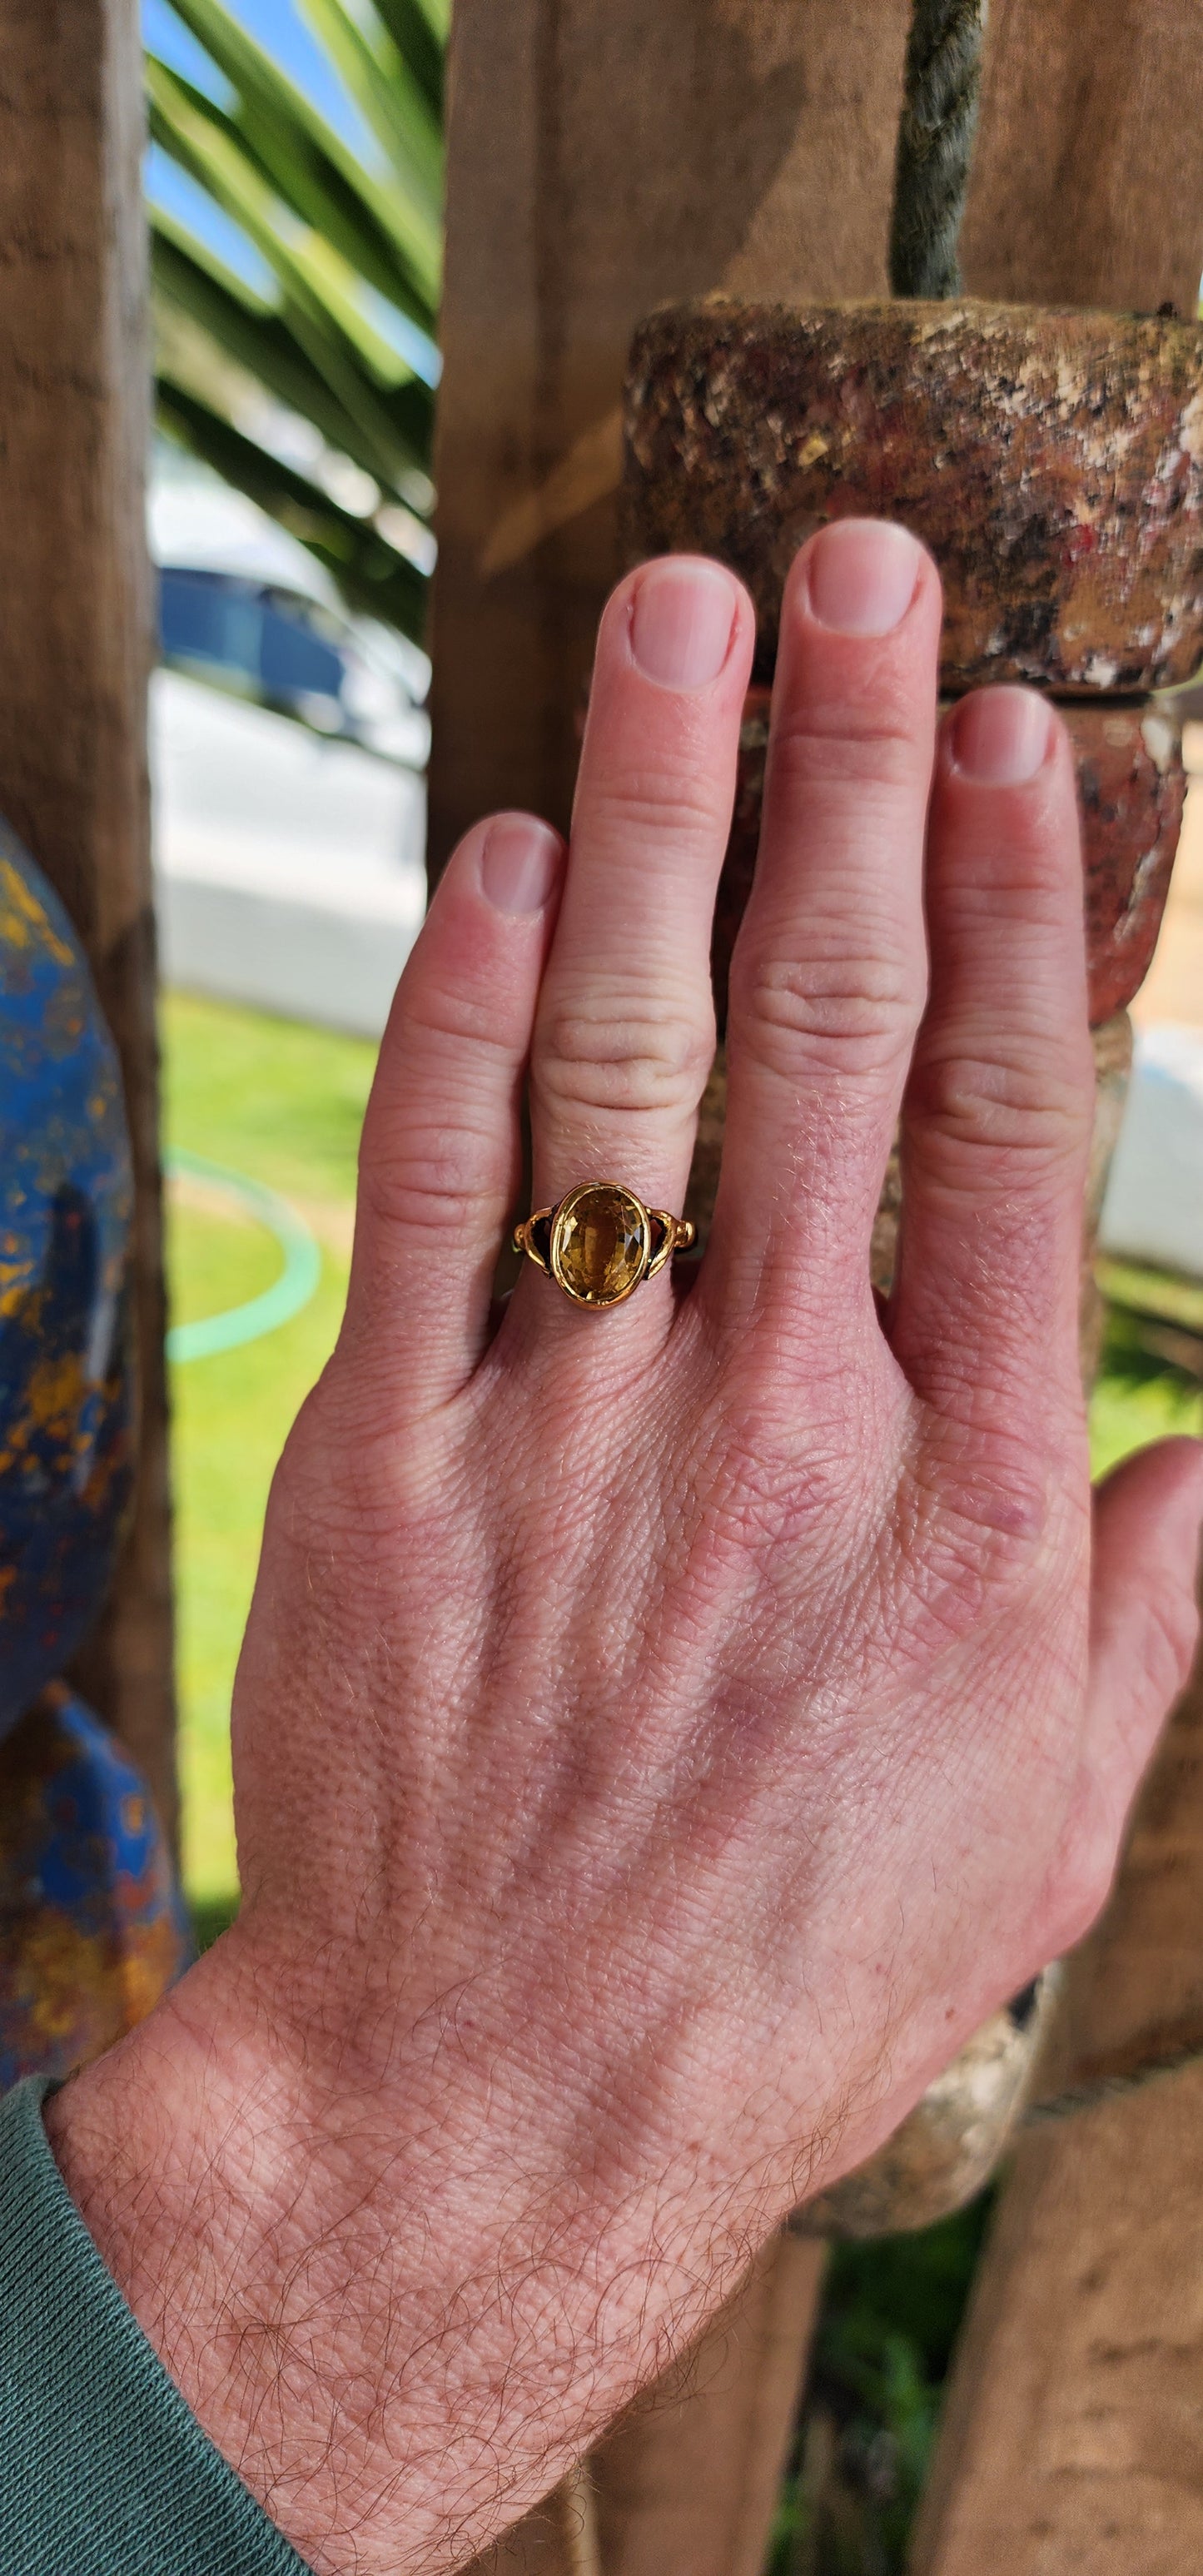
[[[961,294],[984,15],[987,0],[914,0],[889,237],[896,296]]]

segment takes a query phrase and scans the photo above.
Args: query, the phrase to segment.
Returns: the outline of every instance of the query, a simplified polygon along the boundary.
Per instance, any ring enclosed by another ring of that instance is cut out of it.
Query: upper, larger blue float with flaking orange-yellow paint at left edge
[[[0,1734],[80,1646],[121,1540],[131,1203],[88,961],[0,822]]]

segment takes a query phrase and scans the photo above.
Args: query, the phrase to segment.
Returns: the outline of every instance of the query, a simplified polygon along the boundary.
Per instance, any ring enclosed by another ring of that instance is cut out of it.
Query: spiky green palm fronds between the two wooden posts
[[[368,157],[224,0],[173,8],[229,103],[147,52],[149,134],[240,227],[270,291],[152,206],[160,425],[312,546],[350,605],[422,641],[435,397],[397,325],[433,340],[438,322],[448,5],[301,0]],[[278,453],[283,415],[317,430],[312,459]]]

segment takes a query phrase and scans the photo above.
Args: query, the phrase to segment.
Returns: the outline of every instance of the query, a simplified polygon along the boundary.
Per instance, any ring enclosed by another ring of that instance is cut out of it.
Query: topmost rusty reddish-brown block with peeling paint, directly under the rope
[[[899,518],[945,582],[943,685],[1149,690],[1203,649],[1203,327],[1012,304],[670,307],[626,381],[626,538],[757,605],[829,518]]]

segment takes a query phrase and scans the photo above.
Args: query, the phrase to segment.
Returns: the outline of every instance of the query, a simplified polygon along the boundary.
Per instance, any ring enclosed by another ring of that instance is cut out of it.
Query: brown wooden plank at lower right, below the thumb
[[[1203,1656],[1072,1960],[1064,2071],[1203,2048]],[[1203,2066],[1015,2154],[956,2362],[914,2576],[1195,2576]]]

